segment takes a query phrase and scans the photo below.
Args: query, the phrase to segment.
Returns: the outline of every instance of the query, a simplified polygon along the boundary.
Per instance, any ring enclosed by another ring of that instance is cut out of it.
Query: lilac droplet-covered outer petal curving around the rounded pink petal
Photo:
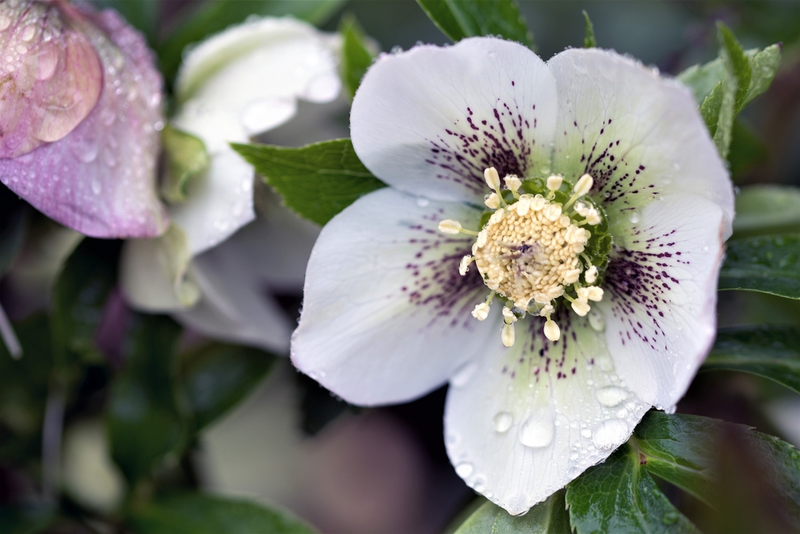
[[[0,160],[0,181],[86,235],[159,235],[167,217],[155,188],[163,116],[154,57],[116,12],[75,17],[103,67],[100,100],[63,139]]]

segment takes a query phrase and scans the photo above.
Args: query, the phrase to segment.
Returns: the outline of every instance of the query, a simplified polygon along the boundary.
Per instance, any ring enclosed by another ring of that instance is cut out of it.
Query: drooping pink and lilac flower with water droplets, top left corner
[[[162,80],[142,36],[112,10],[6,0],[0,47],[0,181],[86,235],[162,233]]]

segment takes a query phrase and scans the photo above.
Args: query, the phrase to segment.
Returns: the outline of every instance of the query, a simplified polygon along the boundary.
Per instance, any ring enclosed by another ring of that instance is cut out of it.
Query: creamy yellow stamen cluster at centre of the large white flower
[[[596,258],[586,253],[593,232],[584,228],[603,222],[600,210],[585,198],[594,180],[584,174],[567,196],[559,191],[564,184],[560,175],[548,177],[540,192],[535,185],[525,187],[536,181],[523,182],[513,174],[501,181],[494,167],[484,171],[484,178],[492,193],[485,197],[490,215],[483,227],[468,230],[452,219],[439,223],[443,233],[476,236],[472,254],[462,258],[458,271],[464,276],[475,263],[491,293],[472,315],[485,320],[498,296],[505,303],[501,341],[506,347],[514,345],[514,324],[528,314],[544,318],[544,335],[557,341],[561,329],[551,316],[559,305],[585,317],[589,302],[603,299],[603,289],[595,285],[600,274]]]

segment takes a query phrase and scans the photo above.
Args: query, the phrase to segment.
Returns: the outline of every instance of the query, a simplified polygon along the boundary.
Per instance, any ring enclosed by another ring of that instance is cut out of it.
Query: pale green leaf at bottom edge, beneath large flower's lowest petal
[[[514,517],[491,502],[484,503],[453,534],[570,534],[564,491]]]

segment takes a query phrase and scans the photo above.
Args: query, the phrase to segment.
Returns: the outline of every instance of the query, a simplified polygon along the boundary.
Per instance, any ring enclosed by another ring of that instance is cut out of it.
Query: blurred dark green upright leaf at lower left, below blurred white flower
[[[135,315],[124,343],[125,368],[109,393],[111,455],[132,483],[151,475],[185,438],[175,393],[181,328],[158,315]]]

